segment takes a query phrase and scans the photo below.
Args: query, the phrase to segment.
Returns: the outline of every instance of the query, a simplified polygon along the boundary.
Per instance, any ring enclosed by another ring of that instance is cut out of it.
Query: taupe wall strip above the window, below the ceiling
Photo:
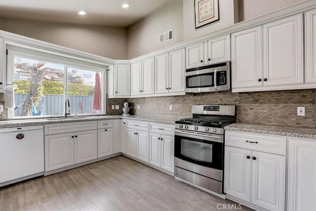
[[[123,28],[0,19],[0,29],[111,59],[126,59]]]

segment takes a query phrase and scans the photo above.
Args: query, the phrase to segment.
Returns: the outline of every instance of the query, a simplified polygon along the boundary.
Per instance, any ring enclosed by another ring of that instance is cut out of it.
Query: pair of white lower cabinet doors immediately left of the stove
[[[173,172],[174,137],[150,133],[149,163]]]

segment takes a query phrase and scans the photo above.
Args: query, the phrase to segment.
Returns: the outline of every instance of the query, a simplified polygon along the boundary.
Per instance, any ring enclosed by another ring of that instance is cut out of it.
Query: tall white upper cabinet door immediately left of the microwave
[[[184,48],[169,53],[169,92],[185,91],[184,53]]]

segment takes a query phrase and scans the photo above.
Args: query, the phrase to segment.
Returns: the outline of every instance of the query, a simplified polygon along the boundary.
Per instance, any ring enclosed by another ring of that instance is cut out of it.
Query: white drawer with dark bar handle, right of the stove
[[[226,131],[225,145],[285,155],[286,137],[251,132]]]

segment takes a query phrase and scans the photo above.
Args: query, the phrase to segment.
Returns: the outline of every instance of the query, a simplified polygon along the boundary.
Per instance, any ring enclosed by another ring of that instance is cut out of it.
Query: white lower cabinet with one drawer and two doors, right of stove
[[[235,197],[257,209],[284,210],[285,156],[259,151],[273,137],[280,138],[267,135],[264,139],[262,134],[226,131],[230,140],[225,140],[224,192],[228,198]],[[242,148],[236,147],[237,142]],[[230,143],[234,146],[227,145]],[[280,148],[285,147],[285,142],[280,143],[284,145]]]

